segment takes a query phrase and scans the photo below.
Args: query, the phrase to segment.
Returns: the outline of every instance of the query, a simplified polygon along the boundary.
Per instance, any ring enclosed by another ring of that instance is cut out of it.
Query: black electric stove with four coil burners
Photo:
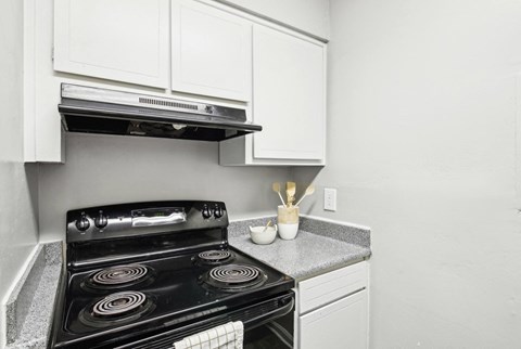
[[[289,347],[292,320],[282,335],[267,333],[280,328],[269,325],[277,319],[292,318],[294,281],[229,246],[227,227],[219,202],[68,211],[67,273],[52,347],[173,348],[239,320],[246,348],[249,338],[253,348],[269,337],[285,337],[280,348]],[[265,324],[265,334],[255,329]]]

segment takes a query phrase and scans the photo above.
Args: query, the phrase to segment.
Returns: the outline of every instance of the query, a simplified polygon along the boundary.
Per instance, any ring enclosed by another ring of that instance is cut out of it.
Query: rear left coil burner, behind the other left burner
[[[114,289],[151,280],[150,270],[140,264],[116,266],[91,274],[82,284],[87,288]]]

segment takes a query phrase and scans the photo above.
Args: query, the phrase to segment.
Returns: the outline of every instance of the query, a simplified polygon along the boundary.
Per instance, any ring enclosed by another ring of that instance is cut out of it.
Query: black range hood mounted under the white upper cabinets
[[[244,108],[62,83],[66,131],[219,142],[260,131]]]

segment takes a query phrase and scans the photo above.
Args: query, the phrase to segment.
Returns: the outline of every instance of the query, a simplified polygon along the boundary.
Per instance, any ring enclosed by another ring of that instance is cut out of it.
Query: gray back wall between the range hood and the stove
[[[230,217],[275,215],[272,181],[289,168],[223,167],[218,143],[68,133],[65,165],[40,165],[41,241],[63,240],[68,209],[160,199],[215,199]]]

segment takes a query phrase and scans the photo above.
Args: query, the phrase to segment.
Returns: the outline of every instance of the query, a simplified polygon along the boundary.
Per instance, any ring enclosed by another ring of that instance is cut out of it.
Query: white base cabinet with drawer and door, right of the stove
[[[298,283],[298,348],[367,349],[367,286],[365,261]]]

